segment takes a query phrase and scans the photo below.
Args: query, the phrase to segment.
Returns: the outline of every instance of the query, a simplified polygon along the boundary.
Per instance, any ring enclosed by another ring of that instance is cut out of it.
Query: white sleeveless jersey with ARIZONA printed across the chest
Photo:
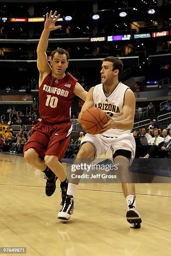
[[[125,119],[123,116],[124,96],[128,88],[128,86],[119,82],[115,90],[108,97],[106,97],[103,91],[103,84],[96,85],[93,89],[94,107],[100,108],[106,112],[113,118],[113,120],[117,118],[117,121],[123,121]],[[131,135],[131,131],[112,128],[104,132],[103,136],[119,137],[123,134]]]

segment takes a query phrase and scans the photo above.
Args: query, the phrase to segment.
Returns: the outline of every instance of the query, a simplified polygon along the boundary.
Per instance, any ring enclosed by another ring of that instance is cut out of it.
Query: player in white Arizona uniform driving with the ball
[[[131,135],[135,115],[135,96],[132,90],[118,81],[118,75],[123,70],[123,63],[115,57],[103,60],[101,69],[101,84],[92,87],[81,109],[80,117],[89,107],[101,108],[108,116],[108,123],[103,126],[101,134],[86,134],[81,141],[79,159],[96,159],[97,156],[106,154],[112,149],[114,163],[119,163],[119,177],[122,182],[123,195],[126,198],[128,211],[126,218],[131,228],[141,227],[141,216],[136,210],[135,187],[132,182],[127,183],[129,176],[129,160],[135,156],[135,140]],[[82,174],[77,170],[75,174]],[[58,213],[58,218],[69,220],[73,213],[75,191],[80,179],[72,179],[68,184],[67,197],[63,208]]]

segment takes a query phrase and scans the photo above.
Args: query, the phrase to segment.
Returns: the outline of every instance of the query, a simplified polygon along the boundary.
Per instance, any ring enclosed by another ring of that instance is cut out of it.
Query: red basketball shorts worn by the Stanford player
[[[71,131],[72,123],[47,125],[39,122],[33,128],[30,139],[25,143],[24,152],[33,148],[41,157],[57,156],[62,162],[62,157],[70,142]]]

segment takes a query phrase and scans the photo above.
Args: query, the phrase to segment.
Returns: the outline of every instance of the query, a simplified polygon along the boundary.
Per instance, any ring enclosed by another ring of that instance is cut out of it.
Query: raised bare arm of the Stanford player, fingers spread
[[[52,16],[52,11],[50,11],[50,14],[46,13],[46,21],[45,21],[44,30],[42,32],[42,35],[40,37],[40,41],[38,43],[37,66],[38,66],[38,70],[40,72],[39,85],[41,85],[41,83],[43,82],[43,79],[51,72],[51,67],[48,64],[48,57],[47,57],[47,54],[46,54],[46,50],[48,48],[48,38],[49,38],[49,35],[50,35],[50,31],[61,28],[61,26],[55,26],[55,22],[60,17],[60,15],[58,15],[55,18],[56,13],[57,13],[57,11],[55,11],[53,16]]]

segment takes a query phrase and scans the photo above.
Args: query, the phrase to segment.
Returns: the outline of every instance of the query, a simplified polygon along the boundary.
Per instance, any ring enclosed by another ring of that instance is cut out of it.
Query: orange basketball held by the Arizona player
[[[103,125],[108,123],[108,117],[100,108],[88,108],[83,112],[80,123],[86,133],[95,135],[101,133]]]

